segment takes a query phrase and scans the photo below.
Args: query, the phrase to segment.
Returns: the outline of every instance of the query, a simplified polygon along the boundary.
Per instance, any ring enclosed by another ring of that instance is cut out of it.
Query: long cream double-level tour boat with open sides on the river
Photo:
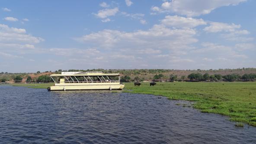
[[[48,91],[122,90],[125,87],[120,83],[119,73],[61,72],[50,76],[55,84]]]

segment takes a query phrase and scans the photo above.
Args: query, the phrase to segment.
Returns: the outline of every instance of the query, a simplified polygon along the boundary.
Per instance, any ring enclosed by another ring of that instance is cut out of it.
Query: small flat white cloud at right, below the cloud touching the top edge
[[[241,27],[241,25],[235,25],[234,23],[227,24],[227,23],[222,23],[222,22],[210,22],[210,26],[205,27],[204,31],[206,31],[206,32],[221,32],[221,31],[234,32],[234,31],[236,31],[236,29],[238,29],[240,27]]]

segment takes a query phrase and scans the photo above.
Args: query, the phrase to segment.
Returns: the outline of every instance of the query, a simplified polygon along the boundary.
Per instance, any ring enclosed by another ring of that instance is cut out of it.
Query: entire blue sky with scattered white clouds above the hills
[[[1,0],[0,72],[256,67],[256,0]]]

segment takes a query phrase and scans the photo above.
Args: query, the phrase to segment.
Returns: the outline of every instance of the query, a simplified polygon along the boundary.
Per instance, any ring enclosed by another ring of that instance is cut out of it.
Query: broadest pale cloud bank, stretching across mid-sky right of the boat
[[[194,29],[170,29],[164,25],[154,25],[148,31],[123,32],[105,29],[77,38],[77,41],[96,44],[106,48],[187,48],[188,44],[197,42],[193,38]],[[101,41],[99,41],[99,39]]]

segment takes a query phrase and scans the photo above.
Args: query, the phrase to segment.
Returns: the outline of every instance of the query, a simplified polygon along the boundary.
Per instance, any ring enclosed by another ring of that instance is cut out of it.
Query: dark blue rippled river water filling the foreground
[[[0,86],[0,143],[256,144],[256,128],[146,94]]]

